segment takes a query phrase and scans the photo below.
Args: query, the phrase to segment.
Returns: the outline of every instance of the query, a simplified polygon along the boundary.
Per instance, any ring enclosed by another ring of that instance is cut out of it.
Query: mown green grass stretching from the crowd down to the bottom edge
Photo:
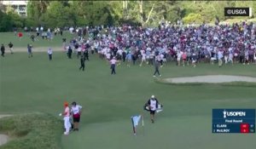
[[[79,132],[60,136],[57,143],[70,149],[253,149],[256,136],[212,134],[212,108],[255,108],[253,86],[170,85],[156,83],[153,66],[110,66],[95,54],[79,72],[79,60],[54,52],[7,54],[0,59],[0,113],[46,112],[61,120],[63,102],[77,101],[83,106]],[[236,75],[256,77],[256,65],[212,66],[199,64],[160,68],[162,77]],[[143,105],[155,95],[164,105],[149,123]],[[132,133],[131,116],[144,115],[144,134],[139,126]]]

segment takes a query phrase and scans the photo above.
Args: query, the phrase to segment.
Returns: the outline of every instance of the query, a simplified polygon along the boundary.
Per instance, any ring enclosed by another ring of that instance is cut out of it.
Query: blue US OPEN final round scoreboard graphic
[[[212,133],[255,133],[255,109],[212,109]]]

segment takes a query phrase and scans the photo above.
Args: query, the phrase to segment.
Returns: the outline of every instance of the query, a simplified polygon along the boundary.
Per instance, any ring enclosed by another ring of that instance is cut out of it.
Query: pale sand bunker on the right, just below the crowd
[[[164,79],[167,83],[230,83],[249,82],[256,83],[256,77],[209,75],[195,77],[172,77]]]

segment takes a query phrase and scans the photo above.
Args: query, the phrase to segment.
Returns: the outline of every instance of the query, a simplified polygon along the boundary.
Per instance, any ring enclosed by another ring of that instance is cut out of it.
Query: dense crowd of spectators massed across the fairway
[[[186,66],[193,61],[252,64],[256,60],[256,24],[208,26],[170,26],[162,23],[156,28],[141,26],[85,27],[69,30],[78,37],[64,43],[65,49],[77,53],[94,52],[100,58],[153,65],[154,60],[163,66],[176,61]],[[138,62],[137,62],[138,61]],[[195,66],[195,65],[194,65]]]

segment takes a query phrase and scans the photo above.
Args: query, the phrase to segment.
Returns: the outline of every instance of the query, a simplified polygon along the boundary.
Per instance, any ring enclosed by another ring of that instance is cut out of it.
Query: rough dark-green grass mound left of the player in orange
[[[61,148],[62,122],[50,114],[31,113],[3,117],[0,132],[11,138],[0,149]]]

